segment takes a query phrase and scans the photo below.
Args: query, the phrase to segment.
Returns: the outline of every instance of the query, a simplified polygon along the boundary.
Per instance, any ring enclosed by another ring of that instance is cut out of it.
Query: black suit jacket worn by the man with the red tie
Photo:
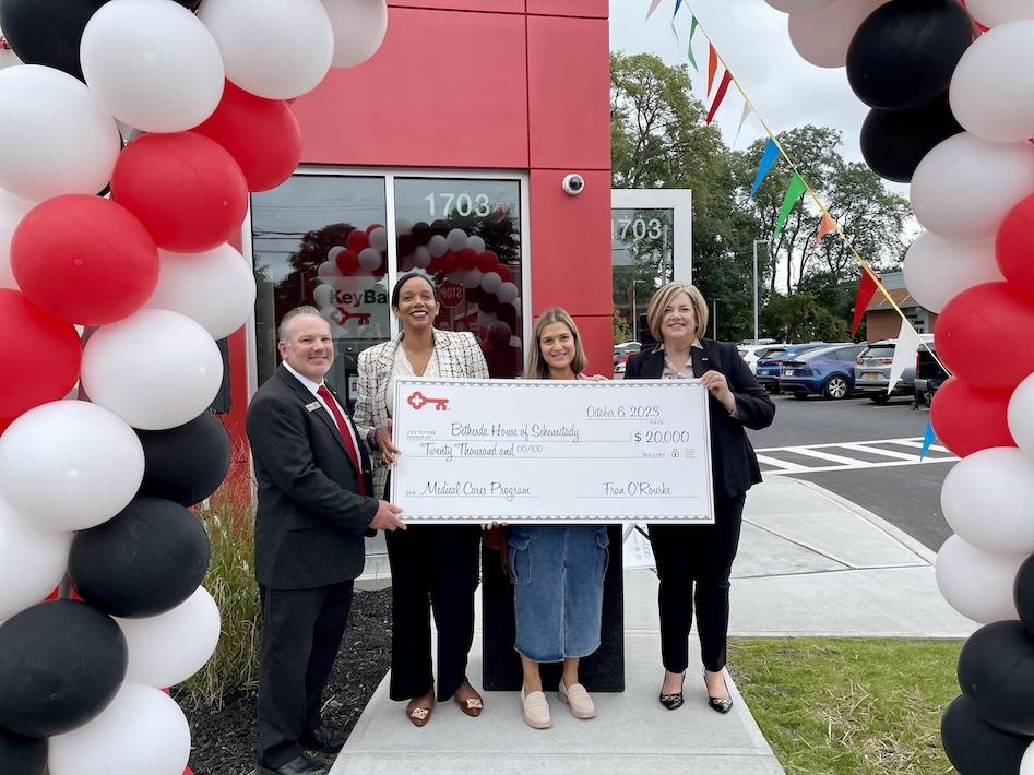
[[[358,494],[360,475],[366,492],[373,492],[363,440],[357,439],[360,474],[330,413],[322,404],[306,408],[314,402],[281,365],[248,407],[259,486],[254,570],[259,584],[272,589],[308,589],[358,576],[366,559],[363,534],[377,513],[377,499]]]

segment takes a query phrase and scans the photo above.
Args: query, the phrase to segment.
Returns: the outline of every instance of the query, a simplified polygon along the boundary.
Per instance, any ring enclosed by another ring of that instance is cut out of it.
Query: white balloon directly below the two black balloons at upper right
[[[987,239],[1034,191],[1034,146],[962,132],[937,145],[912,178],[912,210],[942,237]]]

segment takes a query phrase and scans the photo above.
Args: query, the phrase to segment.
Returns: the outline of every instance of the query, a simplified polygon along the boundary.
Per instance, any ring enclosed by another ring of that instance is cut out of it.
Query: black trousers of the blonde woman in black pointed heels
[[[689,665],[689,630],[697,606],[697,633],[708,670],[726,663],[729,573],[739,546],[746,493],[716,499],[714,525],[650,525],[661,588],[661,658],[664,669]]]

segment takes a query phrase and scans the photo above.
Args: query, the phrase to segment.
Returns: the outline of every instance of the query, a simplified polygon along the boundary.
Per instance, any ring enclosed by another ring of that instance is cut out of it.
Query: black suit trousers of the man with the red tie
[[[352,608],[350,581],[314,589],[259,587],[259,764],[280,767],[302,753],[320,726],[323,689]]]

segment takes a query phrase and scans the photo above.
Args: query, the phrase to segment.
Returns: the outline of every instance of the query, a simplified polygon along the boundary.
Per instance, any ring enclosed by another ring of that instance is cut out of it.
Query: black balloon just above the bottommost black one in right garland
[[[959,654],[959,687],[988,724],[1034,735],[1034,636],[1018,621],[982,627]]]

